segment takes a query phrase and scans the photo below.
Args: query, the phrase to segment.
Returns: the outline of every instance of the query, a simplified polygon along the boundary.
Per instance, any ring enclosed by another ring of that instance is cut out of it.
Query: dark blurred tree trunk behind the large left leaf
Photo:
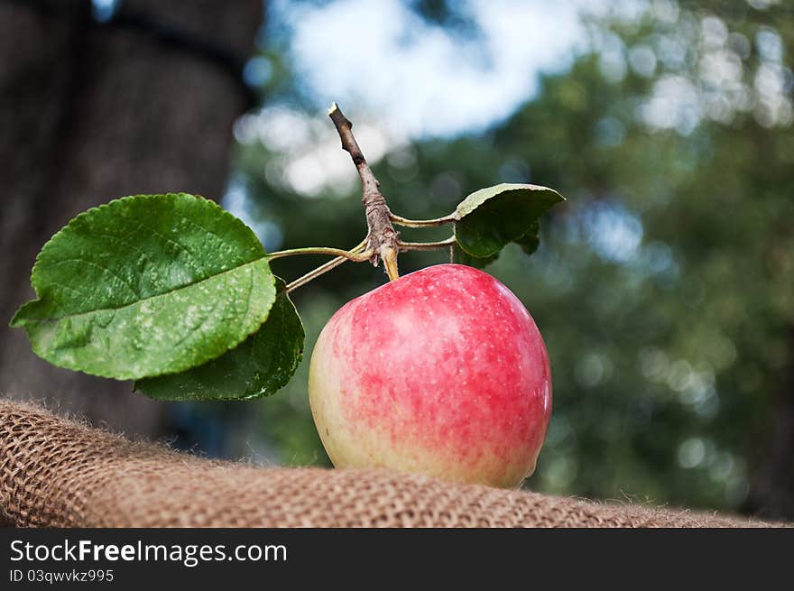
[[[220,198],[263,4],[120,6],[103,24],[88,0],[0,1],[0,393],[151,437],[165,405],[52,367],[7,323],[34,295],[36,253],[80,211],[136,193]]]

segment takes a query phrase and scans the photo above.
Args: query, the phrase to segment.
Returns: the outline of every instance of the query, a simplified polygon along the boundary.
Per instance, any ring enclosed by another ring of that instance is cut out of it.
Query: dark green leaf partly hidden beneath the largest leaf
[[[135,382],[155,400],[245,400],[269,396],[290,381],[303,357],[303,325],[286,286],[279,291],[270,315],[253,335],[217,359],[181,374]]]

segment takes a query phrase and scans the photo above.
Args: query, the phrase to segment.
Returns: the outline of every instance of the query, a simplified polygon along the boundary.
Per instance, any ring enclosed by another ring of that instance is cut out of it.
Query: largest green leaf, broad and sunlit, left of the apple
[[[51,364],[116,379],[180,372],[225,353],[267,319],[263,246],[212,201],[139,195],[89,209],[33,266],[38,300],[19,309]]]

